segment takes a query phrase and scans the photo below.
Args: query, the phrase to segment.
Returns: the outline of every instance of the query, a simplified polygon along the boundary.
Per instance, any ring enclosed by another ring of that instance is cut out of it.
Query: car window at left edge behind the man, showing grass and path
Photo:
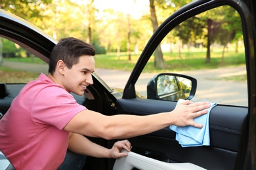
[[[0,82],[28,83],[40,73],[48,73],[48,65],[18,44],[0,37]]]

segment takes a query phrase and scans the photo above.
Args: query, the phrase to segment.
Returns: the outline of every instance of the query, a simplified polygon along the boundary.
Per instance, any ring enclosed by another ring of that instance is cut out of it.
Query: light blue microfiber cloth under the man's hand
[[[177,105],[184,101],[184,99],[179,99]],[[209,135],[209,114],[211,109],[217,105],[217,103],[210,103],[207,114],[203,114],[197,118],[194,118],[194,122],[198,124],[203,124],[202,128],[194,126],[170,126],[169,128],[176,132],[176,140],[181,144],[182,147],[190,146],[209,146],[210,145],[210,135]]]

